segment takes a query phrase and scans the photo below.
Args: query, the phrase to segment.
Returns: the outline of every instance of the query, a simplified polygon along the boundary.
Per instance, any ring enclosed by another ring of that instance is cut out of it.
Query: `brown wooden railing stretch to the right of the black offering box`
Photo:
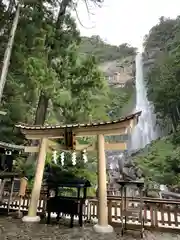
[[[138,198],[129,198],[129,206],[137,208]],[[97,219],[97,199],[90,199],[86,208],[90,212],[90,218]],[[87,211],[87,212],[88,212]],[[170,228],[180,230],[180,201],[163,199],[143,199],[143,214],[146,227]],[[121,199],[119,197],[108,197],[108,220],[109,224],[119,224],[121,217]],[[128,217],[128,224],[140,225],[139,219]]]

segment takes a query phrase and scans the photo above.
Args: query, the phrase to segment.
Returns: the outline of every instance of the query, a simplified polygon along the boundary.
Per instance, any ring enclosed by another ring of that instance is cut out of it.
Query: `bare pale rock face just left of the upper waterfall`
[[[134,57],[126,57],[121,60],[104,62],[99,68],[104,73],[104,76],[110,85],[123,88],[126,87],[127,84],[134,83]]]

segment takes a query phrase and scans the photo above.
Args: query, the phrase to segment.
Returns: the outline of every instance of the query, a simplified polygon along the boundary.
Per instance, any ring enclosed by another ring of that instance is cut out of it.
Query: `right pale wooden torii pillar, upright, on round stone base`
[[[98,224],[94,226],[95,232],[111,233],[113,227],[108,225],[107,185],[106,185],[106,157],[104,135],[97,136],[98,141]]]

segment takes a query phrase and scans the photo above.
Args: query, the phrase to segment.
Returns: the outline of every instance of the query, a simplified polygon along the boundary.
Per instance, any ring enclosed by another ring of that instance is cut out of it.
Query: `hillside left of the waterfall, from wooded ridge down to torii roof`
[[[80,52],[96,57],[100,70],[112,87],[111,116],[115,119],[131,113],[134,108],[136,50],[127,43],[120,46],[107,44],[99,36],[82,37]]]

